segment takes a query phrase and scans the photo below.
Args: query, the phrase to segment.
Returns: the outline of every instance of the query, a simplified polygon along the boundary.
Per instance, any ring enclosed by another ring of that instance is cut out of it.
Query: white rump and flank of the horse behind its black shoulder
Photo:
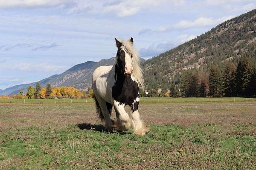
[[[113,65],[100,66],[95,69],[92,77],[93,92],[97,93],[107,102],[111,102],[111,88],[113,86],[114,76],[114,73],[112,73],[113,71],[111,71],[112,68]]]

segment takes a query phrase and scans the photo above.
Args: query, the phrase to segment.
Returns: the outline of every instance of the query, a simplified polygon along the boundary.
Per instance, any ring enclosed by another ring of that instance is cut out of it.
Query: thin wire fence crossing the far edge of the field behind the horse
[[[140,103],[205,103],[205,102],[256,102],[255,98],[210,98],[210,97],[143,97]],[[93,99],[0,99],[0,103],[23,103],[23,104],[60,104],[60,103],[94,103]]]

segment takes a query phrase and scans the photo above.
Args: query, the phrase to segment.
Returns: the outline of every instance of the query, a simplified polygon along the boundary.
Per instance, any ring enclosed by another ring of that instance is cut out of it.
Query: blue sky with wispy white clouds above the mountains
[[[134,38],[148,59],[239,14],[256,0],[0,0],[0,89],[115,56]]]

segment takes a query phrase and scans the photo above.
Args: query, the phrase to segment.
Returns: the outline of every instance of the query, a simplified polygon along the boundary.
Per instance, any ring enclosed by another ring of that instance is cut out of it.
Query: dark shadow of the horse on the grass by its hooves
[[[127,132],[122,132],[122,131],[108,131],[105,129],[105,127],[103,125],[92,125],[90,123],[80,123],[76,125],[79,129],[81,130],[94,130],[94,131],[98,131],[101,133],[118,133],[118,134],[126,134]]]

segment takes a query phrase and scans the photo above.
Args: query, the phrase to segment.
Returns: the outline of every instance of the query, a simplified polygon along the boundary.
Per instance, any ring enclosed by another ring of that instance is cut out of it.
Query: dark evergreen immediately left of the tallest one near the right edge
[[[225,63],[223,72],[223,89],[225,96],[236,96],[236,66],[233,63]]]

